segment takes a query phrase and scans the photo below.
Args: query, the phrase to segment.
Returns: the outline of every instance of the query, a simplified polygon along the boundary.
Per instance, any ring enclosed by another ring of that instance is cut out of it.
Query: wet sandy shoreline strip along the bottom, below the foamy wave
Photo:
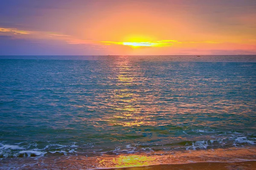
[[[192,170],[194,167],[201,168],[204,166],[208,166],[209,170],[214,170],[214,168],[211,169],[211,166],[215,166],[216,169],[219,166],[218,164],[225,164],[225,166],[231,166],[230,164],[234,164],[233,166],[235,167],[254,167],[256,166],[255,153],[256,147],[253,146],[246,148],[233,147],[216,150],[186,150],[180,152],[171,152],[169,154],[164,154],[163,152],[158,151],[152,153],[102,155],[91,157],[37,156],[5,158],[1,159],[0,161],[0,169],[143,170],[146,169],[144,167],[147,167],[149,170],[152,168],[154,170],[161,170],[163,168],[170,169],[171,167],[183,168],[184,164],[189,166],[191,164]]]

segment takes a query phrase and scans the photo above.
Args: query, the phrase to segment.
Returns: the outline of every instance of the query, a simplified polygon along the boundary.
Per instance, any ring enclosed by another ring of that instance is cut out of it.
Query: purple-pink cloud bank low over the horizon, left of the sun
[[[0,35],[0,55],[103,55],[108,54],[102,46],[70,45],[63,40],[23,39]]]

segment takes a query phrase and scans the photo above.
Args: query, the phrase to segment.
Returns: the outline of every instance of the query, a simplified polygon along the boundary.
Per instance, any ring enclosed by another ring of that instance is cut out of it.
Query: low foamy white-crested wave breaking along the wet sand
[[[196,130],[199,131],[199,130]],[[183,132],[184,133],[184,132]],[[185,132],[186,133],[186,132]],[[200,130],[200,133],[203,133]],[[204,130],[204,133],[212,134]],[[41,144],[37,142],[20,142],[15,144],[0,143],[0,158],[7,157],[32,157],[32,156],[60,156],[60,155],[102,155],[102,154],[134,154],[151,153],[160,150],[168,152],[178,150],[207,150],[229,147],[246,147],[256,144],[256,138],[253,135],[244,136],[242,133],[230,133],[231,135],[209,135],[198,136],[198,140],[186,141],[163,141],[163,142],[138,142],[127,143],[124,145],[113,144],[106,146],[101,144],[83,144],[73,142],[71,144]]]

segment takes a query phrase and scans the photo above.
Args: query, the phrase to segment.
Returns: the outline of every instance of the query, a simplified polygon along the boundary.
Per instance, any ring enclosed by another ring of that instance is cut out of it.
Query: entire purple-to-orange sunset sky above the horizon
[[[1,0],[0,55],[256,54],[256,0]]]

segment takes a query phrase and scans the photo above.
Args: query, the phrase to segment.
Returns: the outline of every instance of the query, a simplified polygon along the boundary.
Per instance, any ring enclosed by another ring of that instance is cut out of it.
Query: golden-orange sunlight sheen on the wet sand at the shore
[[[195,162],[233,162],[255,160],[255,147],[216,150],[186,150],[165,155],[163,152],[150,154],[129,154],[98,158],[99,167],[142,167],[156,164],[186,164]]]

